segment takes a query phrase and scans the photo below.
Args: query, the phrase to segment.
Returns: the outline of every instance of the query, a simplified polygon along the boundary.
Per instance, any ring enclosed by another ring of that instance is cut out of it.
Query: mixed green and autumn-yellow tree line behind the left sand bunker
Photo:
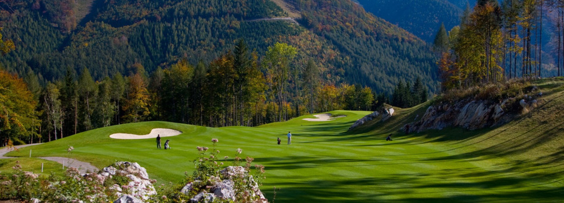
[[[413,87],[396,87],[393,99],[358,84],[320,85],[313,59],[290,71],[297,48],[275,43],[259,61],[240,39],[209,64],[181,60],[146,72],[137,63],[95,81],[89,70],[39,85],[38,77],[0,70],[0,139],[3,144],[50,142],[65,136],[121,123],[172,121],[201,126],[256,126],[303,114],[335,109],[380,110],[384,103],[411,107],[428,99],[417,78]],[[415,97],[409,95],[416,95]]]

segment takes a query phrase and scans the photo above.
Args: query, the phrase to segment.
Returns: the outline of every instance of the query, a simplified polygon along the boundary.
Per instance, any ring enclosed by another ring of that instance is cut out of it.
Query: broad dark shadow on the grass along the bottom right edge
[[[468,173],[441,170],[430,174],[323,179],[323,176],[288,176],[277,183],[277,202],[496,202],[558,201],[564,186],[528,185],[535,176],[493,176],[465,178]],[[429,182],[429,178],[436,179]],[[265,185],[265,187],[272,187]],[[543,188],[544,187],[544,188]],[[358,189],[355,189],[358,188]],[[369,192],[367,192],[369,191]],[[272,200],[273,192],[263,189]],[[407,196],[407,197],[406,197]]]

